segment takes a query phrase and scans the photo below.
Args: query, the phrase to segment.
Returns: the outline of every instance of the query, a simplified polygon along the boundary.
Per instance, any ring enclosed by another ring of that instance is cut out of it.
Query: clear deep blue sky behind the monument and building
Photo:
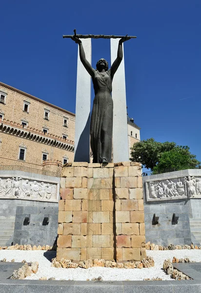
[[[72,112],[77,44],[62,35],[136,35],[124,53],[141,139],[188,145],[201,161],[200,0],[6,0],[0,11],[0,81]],[[109,44],[93,40],[94,67]]]

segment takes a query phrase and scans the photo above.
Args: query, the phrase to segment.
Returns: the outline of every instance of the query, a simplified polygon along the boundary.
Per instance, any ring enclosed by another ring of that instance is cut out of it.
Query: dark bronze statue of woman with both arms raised
[[[90,125],[93,163],[109,163],[112,160],[112,80],[123,58],[122,43],[130,40],[130,37],[125,36],[120,39],[117,58],[110,69],[108,69],[108,63],[104,59],[100,59],[96,64],[97,69],[94,69],[85,58],[81,40],[75,36],[71,39],[79,44],[80,61],[91,75],[94,85],[95,98]]]

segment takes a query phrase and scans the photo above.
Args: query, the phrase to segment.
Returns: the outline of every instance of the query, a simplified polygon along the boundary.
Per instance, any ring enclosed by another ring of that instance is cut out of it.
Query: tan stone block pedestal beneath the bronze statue
[[[67,164],[60,197],[57,260],[146,256],[139,163]]]

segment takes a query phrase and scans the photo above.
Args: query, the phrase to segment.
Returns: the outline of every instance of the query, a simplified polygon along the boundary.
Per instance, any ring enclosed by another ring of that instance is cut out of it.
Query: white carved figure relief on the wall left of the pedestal
[[[57,200],[57,184],[19,177],[0,177],[0,198]]]

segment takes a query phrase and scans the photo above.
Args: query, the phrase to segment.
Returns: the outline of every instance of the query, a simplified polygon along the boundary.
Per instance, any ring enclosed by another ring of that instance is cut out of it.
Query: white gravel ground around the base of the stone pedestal
[[[51,259],[56,256],[56,251],[20,251],[20,250],[1,250],[0,260],[4,257],[7,261],[15,259],[21,262],[38,261],[39,270],[26,279],[37,280],[40,277],[55,277],[56,280],[76,280],[86,281],[92,278],[102,277],[103,281],[125,281],[143,280],[144,278],[160,277],[162,280],[170,280],[162,270],[165,259],[176,256],[177,258],[188,257],[190,261],[201,262],[201,250],[173,250],[173,251],[146,251],[148,256],[153,256],[155,267],[149,269],[112,269],[112,268],[89,268],[89,269],[62,269],[52,268]]]

